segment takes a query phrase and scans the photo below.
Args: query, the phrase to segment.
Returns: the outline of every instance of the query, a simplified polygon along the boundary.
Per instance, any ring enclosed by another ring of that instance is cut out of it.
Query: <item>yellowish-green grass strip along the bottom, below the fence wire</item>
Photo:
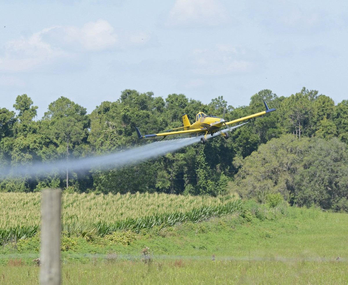
[[[3,269],[3,268],[1,268]],[[0,284],[38,284],[38,267],[7,267]],[[62,284],[346,284],[346,262],[154,261],[62,266]]]

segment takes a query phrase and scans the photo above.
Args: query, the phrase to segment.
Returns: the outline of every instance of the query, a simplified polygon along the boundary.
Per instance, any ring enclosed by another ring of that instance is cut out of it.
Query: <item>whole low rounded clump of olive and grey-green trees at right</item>
[[[337,139],[294,138],[289,135],[273,139],[244,160],[235,160],[240,170],[232,189],[261,203],[274,205],[280,196],[272,201],[269,197],[279,193],[299,206],[315,204],[340,210],[348,187],[346,144]]]

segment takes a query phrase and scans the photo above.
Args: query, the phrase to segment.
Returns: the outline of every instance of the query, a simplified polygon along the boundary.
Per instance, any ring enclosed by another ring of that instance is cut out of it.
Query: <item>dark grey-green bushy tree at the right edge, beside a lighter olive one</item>
[[[348,197],[347,145],[337,139],[312,141],[309,153],[295,175],[295,202],[315,204],[323,209],[338,209]]]

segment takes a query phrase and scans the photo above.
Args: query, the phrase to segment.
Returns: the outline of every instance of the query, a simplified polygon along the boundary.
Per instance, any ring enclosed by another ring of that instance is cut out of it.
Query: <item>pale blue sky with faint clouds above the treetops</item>
[[[0,0],[0,108],[64,96],[90,114],[125,89],[155,97],[302,87],[348,99],[348,1]],[[271,106],[270,106],[271,107]],[[197,110],[199,111],[199,110]]]

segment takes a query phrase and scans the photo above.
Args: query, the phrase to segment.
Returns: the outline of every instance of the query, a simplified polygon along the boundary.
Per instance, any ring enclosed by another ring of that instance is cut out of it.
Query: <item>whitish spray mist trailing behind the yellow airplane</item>
[[[246,124],[246,123],[244,123]],[[244,125],[242,124],[242,125]],[[234,129],[241,125],[230,128]],[[223,132],[227,132],[228,129],[224,129]],[[207,136],[207,139],[220,135],[215,133],[213,136]],[[146,161],[151,158],[157,158],[163,156],[168,152],[174,152],[185,146],[200,142],[201,136],[187,137],[183,139],[163,140],[153,143],[148,143],[143,146],[139,146],[124,151],[119,151],[104,156],[86,157],[81,159],[69,160],[69,171],[79,172],[88,171],[92,168],[98,168],[100,170],[121,168],[126,165],[135,164],[138,162]],[[53,163],[34,163],[31,166],[18,166],[7,169],[11,176],[46,176],[46,174],[52,172],[65,172],[67,168],[66,161],[58,161]]]

